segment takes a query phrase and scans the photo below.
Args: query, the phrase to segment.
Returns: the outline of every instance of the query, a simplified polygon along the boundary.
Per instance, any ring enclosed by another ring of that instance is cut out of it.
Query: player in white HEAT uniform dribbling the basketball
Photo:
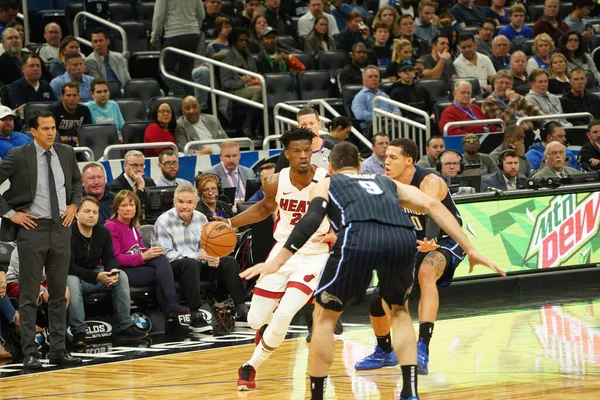
[[[310,163],[313,134],[308,129],[295,128],[281,136],[289,168],[270,176],[263,184],[265,197],[254,206],[230,220],[232,227],[262,221],[276,213],[277,243],[269,255],[277,254],[288,239],[294,225],[306,213],[312,188],[327,175],[327,171]],[[327,241],[335,241],[324,220],[311,240],[304,245],[277,274],[256,284],[248,324],[257,329],[256,349],[252,358],[238,371],[238,390],[256,389],[256,370],[281,345],[294,315],[309,301],[329,256]],[[267,325],[268,324],[268,325]]]

